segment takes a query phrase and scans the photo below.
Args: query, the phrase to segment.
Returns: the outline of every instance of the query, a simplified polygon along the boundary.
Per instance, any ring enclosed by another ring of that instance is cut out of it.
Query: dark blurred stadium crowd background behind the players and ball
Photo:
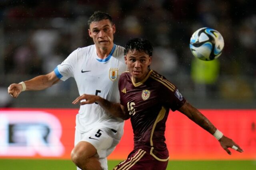
[[[71,103],[78,96],[73,79],[18,99],[8,95],[7,87],[52,71],[74,49],[92,44],[87,20],[96,10],[112,16],[116,44],[136,37],[150,40],[151,68],[166,75],[198,109],[256,109],[253,0],[1,0],[0,108],[78,108]],[[189,49],[192,33],[205,26],[218,30],[225,42],[222,55],[211,62],[195,59]],[[252,119],[254,134],[255,123]],[[10,166],[8,161],[0,160],[0,167]],[[256,166],[252,161],[232,169],[246,164]]]

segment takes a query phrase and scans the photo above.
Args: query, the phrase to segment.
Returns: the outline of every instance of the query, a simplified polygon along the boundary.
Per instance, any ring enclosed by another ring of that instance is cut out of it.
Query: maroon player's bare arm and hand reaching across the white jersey
[[[119,117],[124,120],[129,119],[129,115],[126,115],[123,105],[121,105],[120,103],[112,103],[106,99],[103,99],[100,96],[83,94],[76,98],[72,103],[86,105],[95,102],[98,103],[105,111],[110,113],[110,115],[113,115],[114,117]]]

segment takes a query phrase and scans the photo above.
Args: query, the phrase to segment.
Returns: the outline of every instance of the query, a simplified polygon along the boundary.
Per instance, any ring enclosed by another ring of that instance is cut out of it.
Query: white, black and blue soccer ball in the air
[[[190,38],[192,54],[204,61],[220,57],[224,48],[222,35],[212,28],[200,28]]]

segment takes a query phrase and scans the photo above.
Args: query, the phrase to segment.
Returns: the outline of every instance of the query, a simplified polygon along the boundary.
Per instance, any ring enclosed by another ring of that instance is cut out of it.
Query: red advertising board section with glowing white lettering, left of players
[[[0,109],[0,158],[70,159],[78,109]]]

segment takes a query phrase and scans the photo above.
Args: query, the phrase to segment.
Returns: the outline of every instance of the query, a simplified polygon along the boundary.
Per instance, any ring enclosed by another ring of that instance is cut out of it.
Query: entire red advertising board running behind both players
[[[166,122],[171,160],[255,160],[256,110],[200,110],[243,153],[228,155],[208,132],[178,111]],[[0,158],[70,159],[78,109],[0,109]],[[108,159],[125,159],[133,148],[130,121]]]

